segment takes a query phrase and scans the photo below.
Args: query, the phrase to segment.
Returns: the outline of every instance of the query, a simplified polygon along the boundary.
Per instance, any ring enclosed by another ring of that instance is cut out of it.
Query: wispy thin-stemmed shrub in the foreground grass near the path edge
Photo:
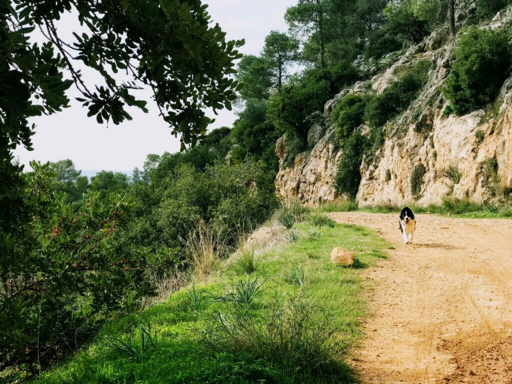
[[[339,373],[339,358],[347,350],[336,337],[331,315],[297,298],[272,301],[265,316],[235,305],[232,314],[219,313],[206,326],[201,341],[207,353],[263,360],[282,377]],[[279,377],[275,382],[281,382]]]

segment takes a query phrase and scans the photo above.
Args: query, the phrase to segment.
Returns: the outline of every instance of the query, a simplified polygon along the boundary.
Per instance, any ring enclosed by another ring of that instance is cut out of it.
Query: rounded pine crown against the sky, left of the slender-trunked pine
[[[272,87],[272,74],[268,62],[260,56],[245,55],[238,63],[236,77],[243,88],[240,95],[244,100],[268,99]]]

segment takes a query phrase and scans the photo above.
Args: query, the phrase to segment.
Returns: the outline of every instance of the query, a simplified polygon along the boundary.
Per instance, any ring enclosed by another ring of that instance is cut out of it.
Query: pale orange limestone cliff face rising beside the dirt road
[[[510,19],[512,9],[502,11],[490,27],[497,28]],[[421,42],[421,47],[411,47],[385,72],[372,78],[372,89],[379,94],[404,66],[425,59],[433,64],[420,96],[403,115],[383,127],[384,144],[371,158],[363,159],[356,197],[360,206],[413,201],[419,205],[439,204],[446,196],[480,203],[510,199],[512,77],[504,82],[498,96],[499,113],[478,110],[464,116],[443,116],[448,103],[439,86],[450,71],[455,42],[444,44],[445,37],[438,31]],[[366,89],[361,84],[329,100],[326,118],[347,94],[364,93]],[[281,167],[275,181],[279,197],[298,198],[308,205],[337,197],[333,182],[343,151],[336,151],[333,132],[329,127],[310,152],[296,157],[293,167]],[[282,137],[280,141],[276,152],[283,164],[286,139]]]

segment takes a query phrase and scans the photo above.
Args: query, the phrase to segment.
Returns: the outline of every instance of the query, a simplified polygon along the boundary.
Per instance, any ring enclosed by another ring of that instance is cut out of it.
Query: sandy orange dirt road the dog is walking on
[[[353,366],[363,384],[512,383],[512,221],[342,212],[380,231],[390,258],[368,268],[372,316]]]

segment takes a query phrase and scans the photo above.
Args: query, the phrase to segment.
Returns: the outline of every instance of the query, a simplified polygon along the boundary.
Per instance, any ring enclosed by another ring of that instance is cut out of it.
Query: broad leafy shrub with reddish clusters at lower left
[[[32,217],[16,244],[23,258],[0,258],[0,366],[25,377],[88,340],[115,311],[154,293],[143,273],[148,252],[132,246],[117,254],[106,242],[123,226],[129,201],[88,191],[75,209],[51,191],[49,165],[31,165],[24,178]]]

